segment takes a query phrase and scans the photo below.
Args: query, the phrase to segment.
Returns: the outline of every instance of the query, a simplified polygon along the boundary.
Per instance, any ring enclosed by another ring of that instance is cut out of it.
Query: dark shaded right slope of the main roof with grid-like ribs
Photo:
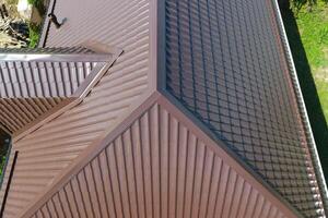
[[[321,201],[269,3],[166,0],[166,86],[305,217],[317,217]]]

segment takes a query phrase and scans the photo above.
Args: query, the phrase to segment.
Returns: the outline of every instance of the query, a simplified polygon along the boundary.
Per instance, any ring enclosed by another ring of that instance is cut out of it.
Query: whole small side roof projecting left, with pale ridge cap
[[[84,47],[0,49],[0,123],[14,133],[80,97],[112,57]]]

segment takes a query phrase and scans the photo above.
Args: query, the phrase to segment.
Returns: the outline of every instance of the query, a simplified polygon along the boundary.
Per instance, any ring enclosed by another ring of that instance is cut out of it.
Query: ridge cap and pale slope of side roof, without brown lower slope
[[[0,50],[0,97],[71,96],[97,63],[82,61],[85,55],[95,52],[74,47]]]

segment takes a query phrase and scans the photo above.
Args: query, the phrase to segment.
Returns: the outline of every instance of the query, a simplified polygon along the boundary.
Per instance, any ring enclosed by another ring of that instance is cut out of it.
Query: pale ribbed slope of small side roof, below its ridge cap
[[[51,98],[71,96],[94,63],[0,61],[0,66],[1,98]]]

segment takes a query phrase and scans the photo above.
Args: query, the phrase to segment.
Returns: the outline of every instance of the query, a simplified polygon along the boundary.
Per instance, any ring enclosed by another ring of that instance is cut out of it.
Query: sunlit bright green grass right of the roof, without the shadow
[[[312,12],[303,8],[296,17],[301,40],[328,120],[328,4],[318,1]]]

